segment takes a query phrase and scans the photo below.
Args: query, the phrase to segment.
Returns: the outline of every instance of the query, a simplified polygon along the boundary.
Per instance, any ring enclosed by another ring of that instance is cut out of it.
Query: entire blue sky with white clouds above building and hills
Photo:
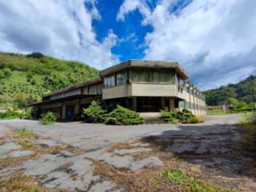
[[[102,70],[175,61],[201,90],[256,74],[254,0],[0,1],[0,51],[41,52]]]

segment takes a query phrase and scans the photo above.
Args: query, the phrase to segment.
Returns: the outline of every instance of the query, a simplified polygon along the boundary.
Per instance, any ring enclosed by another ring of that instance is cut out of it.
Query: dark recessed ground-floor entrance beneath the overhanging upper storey
[[[161,110],[162,103],[161,98],[137,98],[137,110],[138,112],[159,112]]]

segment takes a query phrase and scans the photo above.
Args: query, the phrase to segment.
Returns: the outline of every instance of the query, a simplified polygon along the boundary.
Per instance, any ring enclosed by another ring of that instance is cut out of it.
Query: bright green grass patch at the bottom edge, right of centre
[[[220,186],[214,186],[198,178],[191,177],[182,170],[165,169],[160,173],[162,178],[182,186],[184,191],[191,192],[238,192],[236,189],[226,189]]]

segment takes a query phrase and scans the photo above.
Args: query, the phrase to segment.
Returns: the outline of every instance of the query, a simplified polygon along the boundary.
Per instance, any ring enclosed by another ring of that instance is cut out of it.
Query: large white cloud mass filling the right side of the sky
[[[135,9],[120,7],[120,18]],[[145,37],[145,59],[175,60],[201,89],[238,82],[256,70],[256,2],[194,0],[170,12],[177,0],[158,1],[142,25],[153,27]],[[136,9],[146,7],[145,2]],[[142,13],[142,10],[139,10]]]

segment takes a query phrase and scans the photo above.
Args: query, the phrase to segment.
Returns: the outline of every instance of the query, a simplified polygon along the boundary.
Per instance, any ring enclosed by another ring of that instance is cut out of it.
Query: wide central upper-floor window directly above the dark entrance
[[[174,83],[174,73],[163,70],[132,70],[133,82]]]

